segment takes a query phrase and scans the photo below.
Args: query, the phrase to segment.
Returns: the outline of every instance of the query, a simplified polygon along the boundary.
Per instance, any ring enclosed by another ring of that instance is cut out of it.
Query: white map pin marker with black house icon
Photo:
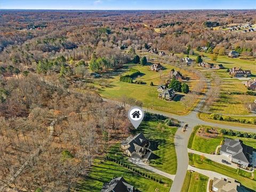
[[[128,111],[128,117],[134,128],[137,129],[143,120],[144,112],[140,107],[132,107]]]

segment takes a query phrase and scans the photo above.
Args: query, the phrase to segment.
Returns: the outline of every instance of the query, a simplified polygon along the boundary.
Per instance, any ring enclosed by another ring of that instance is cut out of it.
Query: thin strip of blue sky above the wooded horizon
[[[0,9],[194,10],[256,9],[256,0],[0,0]]]

